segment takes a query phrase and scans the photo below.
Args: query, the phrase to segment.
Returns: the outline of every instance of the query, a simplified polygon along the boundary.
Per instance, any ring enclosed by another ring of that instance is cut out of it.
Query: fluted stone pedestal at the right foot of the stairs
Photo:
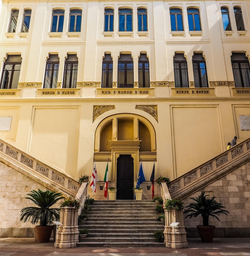
[[[172,227],[170,226],[172,222],[180,222],[180,224]],[[176,249],[188,247],[183,210],[165,210],[165,230],[163,233],[166,247]]]

